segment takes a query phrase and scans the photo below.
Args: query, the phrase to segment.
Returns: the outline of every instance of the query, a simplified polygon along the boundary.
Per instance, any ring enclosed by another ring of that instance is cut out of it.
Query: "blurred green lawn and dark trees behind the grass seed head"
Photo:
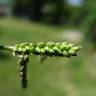
[[[0,96],[96,96],[96,0],[0,0],[0,45],[68,41],[77,57],[31,56],[28,88],[20,86],[17,61],[0,51]]]

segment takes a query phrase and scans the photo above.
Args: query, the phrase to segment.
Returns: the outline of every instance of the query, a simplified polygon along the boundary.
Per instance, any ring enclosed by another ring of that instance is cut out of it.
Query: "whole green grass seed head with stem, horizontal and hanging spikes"
[[[72,57],[77,56],[81,46],[76,46],[68,42],[39,42],[21,43],[13,46],[0,46],[0,50],[12,51],[13,56],[17,56],[18,71],[22,88],[27,87],[27,64],[30,55],[50,56],[50,57]]]

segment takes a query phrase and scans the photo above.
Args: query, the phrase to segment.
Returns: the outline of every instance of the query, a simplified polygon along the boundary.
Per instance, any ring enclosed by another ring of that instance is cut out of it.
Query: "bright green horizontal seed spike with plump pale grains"
[[[81,46],[75,46],[68,42],[53,43],[22,43],[16,44],[13,48],[13,54],[28,54],[28,55],[46,55],[46,56],[77,56]]]

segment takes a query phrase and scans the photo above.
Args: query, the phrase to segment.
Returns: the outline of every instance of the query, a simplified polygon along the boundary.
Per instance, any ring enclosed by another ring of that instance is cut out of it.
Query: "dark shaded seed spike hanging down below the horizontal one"
[[[19,77],[21,81],[22,88],[27,87],[27,63],[28,63],[28,55],[19,55]]]

